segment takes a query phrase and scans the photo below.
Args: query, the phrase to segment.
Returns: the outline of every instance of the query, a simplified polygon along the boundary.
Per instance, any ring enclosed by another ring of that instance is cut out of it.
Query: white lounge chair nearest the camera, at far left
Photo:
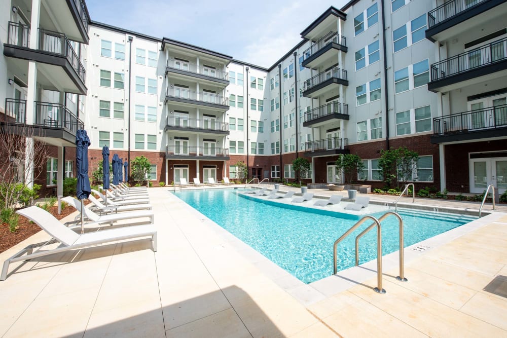
[[[125,239],[150,236],[152,238],[153,251],[157,251],[157,231],[153,224],[94,231],[80,235],[65,227],[52,214],[37,206],[21,209],[16,211],[16,213],[32,220],[35,224],[41,227],[42,230],[52,236],[53,240],[29,245],[15,255],[6,259],[4,261],[0,280],[5,280],[7,278],[9,265],[17,261],[29,260],[63,251],[82,249]],[[57,248],[43,250],[45,245],[56,242],[60,243]],[[33,249],[35,248],[37,248],[37,250],[33,252]]]

